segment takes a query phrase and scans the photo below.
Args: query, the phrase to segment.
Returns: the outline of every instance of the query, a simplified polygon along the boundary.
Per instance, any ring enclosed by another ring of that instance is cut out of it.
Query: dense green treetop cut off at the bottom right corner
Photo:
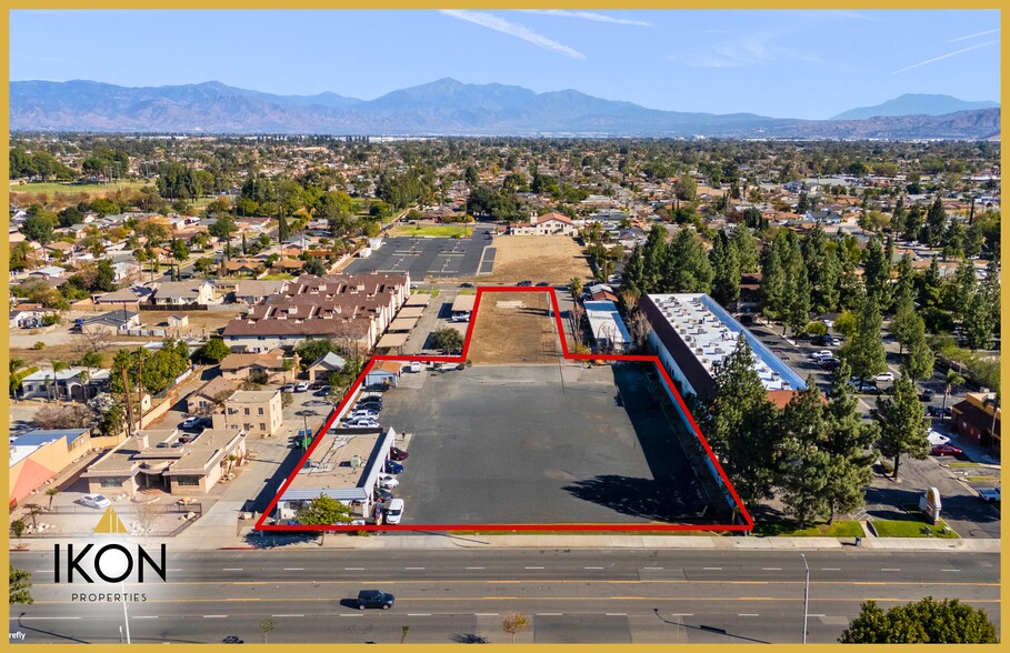
[[[887,612],[874,601],[860,606],[859,616],[838,639],[842,644],[996,644],[996,626],[982,609],[958,599],[932,596]]]

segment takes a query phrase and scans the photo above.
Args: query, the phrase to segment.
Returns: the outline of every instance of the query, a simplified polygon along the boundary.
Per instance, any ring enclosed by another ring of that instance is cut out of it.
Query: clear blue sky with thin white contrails
[[[10,79],[371,100],[452,77],[676,111],[999,101],[997,11],[11,11]]]

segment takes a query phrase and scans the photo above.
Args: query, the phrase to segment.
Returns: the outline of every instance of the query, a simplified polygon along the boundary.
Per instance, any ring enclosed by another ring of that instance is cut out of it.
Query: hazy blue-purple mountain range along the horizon
[[[918,104],[899,98],[881,107],[897,111],[894,107],[930,104],[922,98],[946,97],[913,98],[920,98]],[[660,111],[573,90],[537,93],[448,78],[367,101],[329,92],[276,96],[213,81],[142,88],[83,80],[10,82],[12,131],[989,139],[1000,130],[998,106],[939,115],[917,110],[860,119],[850,113],[799,120]]]

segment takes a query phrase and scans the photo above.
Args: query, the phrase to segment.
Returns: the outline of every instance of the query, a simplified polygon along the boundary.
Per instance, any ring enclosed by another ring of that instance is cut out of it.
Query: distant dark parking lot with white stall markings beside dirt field
[[[494,252],[490,248],[490,230],[476,227],[470,238],[426,238],[398,235],[383,239],[382,247],[366,259],[354,259],[346,272],[358,274],[373,271],[410,273],[411,281],[426,278],[473,278],[493,269]],[[491,251],[486,254],[484,249]]]

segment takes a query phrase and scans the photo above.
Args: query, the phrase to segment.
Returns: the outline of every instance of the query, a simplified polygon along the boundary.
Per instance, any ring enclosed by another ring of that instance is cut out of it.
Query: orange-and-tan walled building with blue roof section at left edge
[[[37,493],[91,449],[90,429],[29,431],[10,441],[7,501],[10,508]],[[42,503],[44,500],[38,500]]]

